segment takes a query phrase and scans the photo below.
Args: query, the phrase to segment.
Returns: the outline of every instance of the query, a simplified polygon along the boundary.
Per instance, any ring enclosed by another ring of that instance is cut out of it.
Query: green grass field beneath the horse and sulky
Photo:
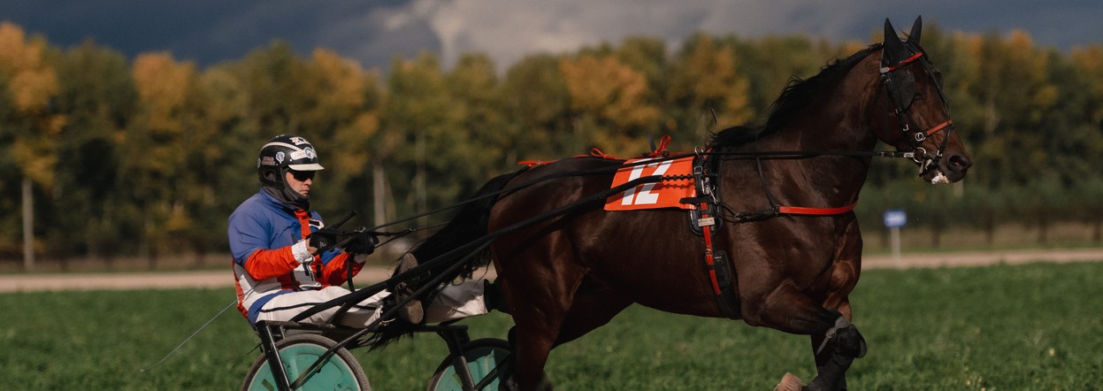
[[[0,295],[0,390],[236,389],[259,355],[229,289]],[[1103,263],[877,270],[852,296],[869,355],[852,390],[1103,389]],[[468,320],[504,337],[501,314]],[[420,390],[446,353],[433,335],[357,351],[376,390]],[[629,308],[556,349],[559,390],[770,390],[814,376],[805,337]]]

